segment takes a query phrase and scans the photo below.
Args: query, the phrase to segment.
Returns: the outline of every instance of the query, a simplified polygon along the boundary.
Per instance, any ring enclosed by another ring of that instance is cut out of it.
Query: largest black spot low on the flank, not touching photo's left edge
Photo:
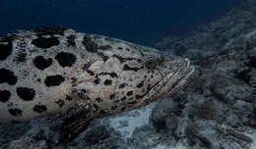
[[[35,91],[29,87],[17,87],[16,93],[24,101],[32,101],[35,96]]]

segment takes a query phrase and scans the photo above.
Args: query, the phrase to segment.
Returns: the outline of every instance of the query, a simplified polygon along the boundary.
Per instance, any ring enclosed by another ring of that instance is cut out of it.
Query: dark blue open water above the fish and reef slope
[[[0,35],[64,25],[154,45],[224,13],[238,0],[0,0]]]

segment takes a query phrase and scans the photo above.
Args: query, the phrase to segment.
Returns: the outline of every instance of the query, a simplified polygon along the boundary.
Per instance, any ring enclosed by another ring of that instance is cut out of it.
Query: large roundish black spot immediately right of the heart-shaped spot
[[[76,63],[77,58],[72,53],[60,52],[56,55],[55,59],[62,68],[65,68],[72,67]]]

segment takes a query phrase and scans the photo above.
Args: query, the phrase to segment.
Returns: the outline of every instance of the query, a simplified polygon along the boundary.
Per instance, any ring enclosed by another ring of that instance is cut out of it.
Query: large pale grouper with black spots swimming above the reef
[[[195,69],[188,59],[64,27],[0,38],[0,123],[62,114],[68,142],[98,118],[176,93]]]

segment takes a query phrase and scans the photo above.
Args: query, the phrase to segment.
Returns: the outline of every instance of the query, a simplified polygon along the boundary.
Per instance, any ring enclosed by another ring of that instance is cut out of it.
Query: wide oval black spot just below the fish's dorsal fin
[[[38,37],[32,40],[32,44],[38,48],[47,49],[55,45],[59,45],[59,39],[57,37]]]

